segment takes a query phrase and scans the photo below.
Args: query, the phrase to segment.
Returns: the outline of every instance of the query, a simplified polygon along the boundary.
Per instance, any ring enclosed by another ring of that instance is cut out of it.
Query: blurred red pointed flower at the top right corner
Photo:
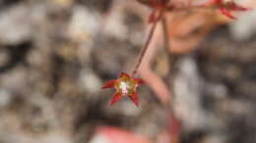
[[[251,10],[251,8],[245,8],[243,6],[237,5],[232,0],[229,0],[229,1],[226,1],[226,2],[224,2],[224,0],[212,0],[207,5],[219,8],[221,10],[222,14],[224,14],[224,16],[226,16],[230,19],[236,19],[236,17],[231,14],[231,11]]]

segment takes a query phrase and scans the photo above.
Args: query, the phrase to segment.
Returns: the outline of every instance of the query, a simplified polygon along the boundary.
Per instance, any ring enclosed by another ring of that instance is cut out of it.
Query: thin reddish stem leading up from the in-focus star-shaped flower
[[[148,36],[148,39],[147,39],[147,41],[146,41],[144,47],[142,48],[142,50],[141,50],[141,52],[140,52],[140,55],[139,55],[139,58],[138,58],[138,61],[137,61],[136,65],[135,65],[135,67],[134,67],[134,69],[133,69],[133,71],[132,71],[132,76],[135,76],[135,75],[136,75],[136,73],[137,73],[139,67],[140,67],[141,64],[142,64],[143,58],[144,58],[144,56],[145,56],[145,54],[146,54],[146,52],[147,52],[147,49],[149,48],[149,45],[150,45],[150,43],[151,43],[151,40],[152,40],[152,37],[153,37],[153,35],[154,35],[154,31],[155,31],[155,29],[156,29],[156,27],[157,27],[157,24],[158,24],[158,22],[154,23],[154,24],[152,25],[152,27],[151,27],[150,34],[149,34],[149,36]]]

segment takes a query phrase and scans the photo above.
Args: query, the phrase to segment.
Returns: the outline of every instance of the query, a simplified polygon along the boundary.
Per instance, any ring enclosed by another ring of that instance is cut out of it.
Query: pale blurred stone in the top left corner
[[[17,5],[0,15],[0,43],[18,44],[32,38],[31,9]]]

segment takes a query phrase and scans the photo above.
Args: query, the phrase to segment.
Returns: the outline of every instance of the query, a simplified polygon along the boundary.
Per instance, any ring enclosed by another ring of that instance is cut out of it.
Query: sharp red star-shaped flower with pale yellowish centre
[[[143,83],[144,82],[141,78],[133,78],[129,74],[121,72],[117,79],[106,82],[102,88],[115,88],[116,92],[113,94],[110,101],[111,106],[119,101],[123,96],[128,96],[138,107],[139,98],[137,89]]]

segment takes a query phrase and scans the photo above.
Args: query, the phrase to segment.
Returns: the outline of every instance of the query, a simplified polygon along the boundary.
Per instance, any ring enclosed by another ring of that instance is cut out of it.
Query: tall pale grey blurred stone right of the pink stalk
[[[202,85],[196,63],[192,58],[185,58],[178,66],[173,83],[175,113],[186,129],[203,129],[209,124],[209,119],[200,106]]]

